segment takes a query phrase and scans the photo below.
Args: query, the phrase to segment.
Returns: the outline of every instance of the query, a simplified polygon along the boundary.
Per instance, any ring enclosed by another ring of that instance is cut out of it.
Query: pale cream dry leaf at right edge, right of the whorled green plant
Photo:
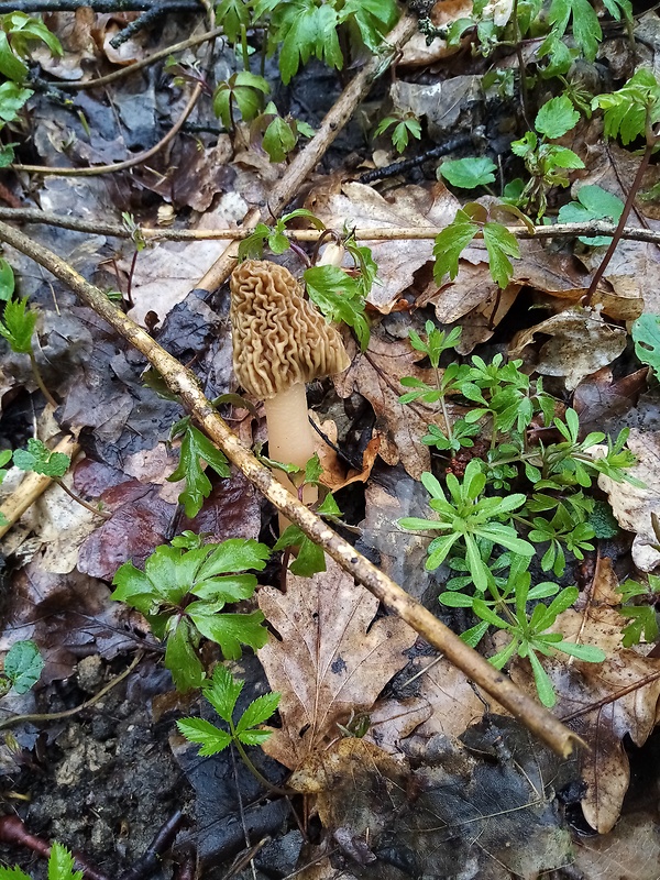
[[[627,446],[637,455],[637,464],[630,468],[629,473],[640,480],[645,487],[615,483],[605,474],[598,475],[598,486],[607,493],[619,526],[635,532],[635,564],[641,571],[652,571],[660,563],[660,552],[651,547],[658,543],[651,514],[660,516],[660,433],[631,428]]]

